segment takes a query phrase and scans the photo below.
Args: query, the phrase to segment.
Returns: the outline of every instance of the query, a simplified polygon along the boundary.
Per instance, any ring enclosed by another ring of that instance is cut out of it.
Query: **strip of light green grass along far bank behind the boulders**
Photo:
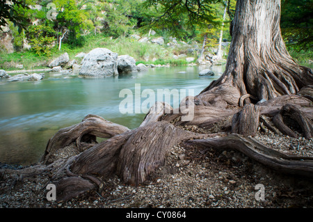
[[[0,69],[3,70],[17,70],[17,64],[24,65],[24,69],[41,69],[47,68],[50,61],[61,54],[67,52],[70,60],[76,59],[78,62],[81,58],[75,58],[80,52],[88,53],[97,47],[107,48],[118,55],[129,55],[135,58],[136,61],[145,64],[161,64],[161,65],[186,65],[188,64],[184,59],[175,60],[172,58],[174,54],[184,53],[184,48],[171,48],[166,45],[156,45],[152,43],[141,43],[131,38],[120,37],[111,39],[103,35],[87,35],[86,43],[83,47],[71,47],[65,43],[62,44],[61,50],[58,46],[51,49],[52,56],[38,56],[32,51],[18,51],[12,54],[0,52]],[[180,50],[180,51],[179,51]],[[139,63],[139,62],[137,62]]]

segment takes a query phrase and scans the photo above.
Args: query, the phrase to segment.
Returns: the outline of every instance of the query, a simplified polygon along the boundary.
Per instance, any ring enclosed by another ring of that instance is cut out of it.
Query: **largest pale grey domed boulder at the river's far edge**
[[[109,49],[91,50],[81,61],[79,75],[83,77],[109,77],[118,75],[118,54]]]

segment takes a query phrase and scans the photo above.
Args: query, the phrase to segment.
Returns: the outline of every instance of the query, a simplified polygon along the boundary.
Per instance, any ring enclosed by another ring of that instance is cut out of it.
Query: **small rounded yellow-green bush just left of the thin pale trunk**
[[[42,24],[29,26],[28,38],[31,42],[31,50],[38,56],[51,56],[51,48],[56,40],[54,29]]]

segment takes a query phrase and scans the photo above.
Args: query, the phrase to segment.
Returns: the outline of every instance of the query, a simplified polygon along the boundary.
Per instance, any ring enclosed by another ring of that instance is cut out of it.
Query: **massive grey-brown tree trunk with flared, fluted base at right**
[[[237,1],[231,33],[225,72],[202,91],[202,100],[223,85],[236,87],[240,96],[251,95],[245,102],[251,97],[258,102],[313,84],[312,70],[296,64],[282,40],[280,1]]]

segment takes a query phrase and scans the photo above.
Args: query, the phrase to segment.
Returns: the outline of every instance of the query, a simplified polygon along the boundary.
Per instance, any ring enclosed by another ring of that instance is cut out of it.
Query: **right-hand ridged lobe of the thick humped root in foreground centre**
[[[141,127],[120,151],[117,173],[124,182],[141,184],[150,173],[163,165],[165,155],[173,145],[195,136],[165,121]]]

